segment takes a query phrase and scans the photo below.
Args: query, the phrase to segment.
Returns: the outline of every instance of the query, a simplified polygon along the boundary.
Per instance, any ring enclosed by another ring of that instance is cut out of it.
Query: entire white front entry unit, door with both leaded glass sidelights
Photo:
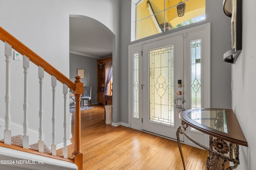
[[[130,45],[129,56],[130,127],[176,139],[180,111],[210,108],[210,23]]]

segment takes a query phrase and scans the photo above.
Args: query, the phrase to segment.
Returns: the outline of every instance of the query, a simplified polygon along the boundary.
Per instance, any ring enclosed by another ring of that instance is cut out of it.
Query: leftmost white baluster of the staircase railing
[[[6,57],[6,94],[5,94],[5,130],[4,130],[4,143],[11,145],[11,115],[10,115],[10,102],[11,102],[11,93],[10,93],[10,65],[11,65],[11,56],[12,56],[12,46],[8,43],[4,44],[4,55]]]

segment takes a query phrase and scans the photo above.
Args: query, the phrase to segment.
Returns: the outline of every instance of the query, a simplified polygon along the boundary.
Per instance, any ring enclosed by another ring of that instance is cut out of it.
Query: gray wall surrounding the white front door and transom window
[[[128,123],[128,45],[208,22],[211,23],[211,107],[231,108],[231,66],[223,62],[223,54],[231,49],[230,18],[224,14],[222,3],[223,0],[206,0],[204,21],[131,42],[131,1],[121,0],[121,122]]]

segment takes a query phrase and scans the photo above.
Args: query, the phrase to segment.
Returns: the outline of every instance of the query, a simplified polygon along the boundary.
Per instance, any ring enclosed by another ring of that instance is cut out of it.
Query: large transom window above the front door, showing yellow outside
[[[133,0],[135,1],[135,0]],[[141,0],[136,3],[135,39],[205,19],[205,0]],[[132,24],[133,25],[133,24]]]

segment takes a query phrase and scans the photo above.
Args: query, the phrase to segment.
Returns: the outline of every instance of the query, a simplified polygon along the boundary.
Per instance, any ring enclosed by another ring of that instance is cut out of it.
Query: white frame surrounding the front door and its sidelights
[[[129,89],[128,89],[128,113],[129,113],[129,122],[128,122],[128,127],[132,127],[134,129],[138,129],[138,130],[142,130],[142,123],[141,123],[141,116],[139,117],[139,119],[134,119],[132,117],[133,114],[133,85],[132,85],[132,80],[133,80],[133,74],[132,74],[132,69],[133,69],[133,64],[132,64],[132,53],[134,53],[134,49],[138,50],[138,52],[141,55],[141,51],[142,51],[142,45],[146,44],[146,43],[151,43],[154,41],[158,41],[161,39],[166,39],[169,37],[173,37],[176,35],[183,35],[184,36],[184,51],[187,53],[184,55],[190,55],[190,50],[188,50],[188,45],[187,43],[190,41],[189,39],[189,35],[193,35],[193,32],[196,31],[200,31],[203,30],[204,31],[204,36],[202,36],[202,41],[204,42],[204,44],[206,44],[203,48],[202,51],[202,70],[204,70],[202,72],[202,76],[204,77],[203,83],[204,83],[204,87],[206,88],[202,88],[202,97],[204,98],[204,101],[202,101],[202,108],[210,108],[210,23],[206,23],[206,24],[202,24],[196,27],[192,27],[192,28],[188,28],[188,29],[184,29],[181,31],[177,31],[174,33],[170,33],[168,35],[163,35],[160,37],[156,37],[153,39],[149,39],[146,41],[142,41],[136,44],[132,44],[129,45],[129,53],[128,53],[128,79],[129,79]],[[186,43],[187,42],[187,43]],[[188,54],[189,53],[189,54]],[[190,64],[190,62],[186,61],[186,56],[184,57],[184,64],[187,65]],[[186,65],[184,65],[186,67]],[[190,67],[189,67],[190,68]],[[184,70],[184,74],[186,74],[187,70]],[[186,75],[185,75],[186,76]],[[186,80],[188,81],[188,80]],[[184,88],[184,92],[188,92],[188,90],[186,90]],[[188,109],[188,107],[190,107],[190,104],[188,104],[188,102],[190,102],[190,100],[185,99],[185,109]],[[207,139],[206,139],[207,141]],[[188,141],[184,141],[185,143],[189,142]],[[188,143],[188,145],[193,145],[192,143]]]

